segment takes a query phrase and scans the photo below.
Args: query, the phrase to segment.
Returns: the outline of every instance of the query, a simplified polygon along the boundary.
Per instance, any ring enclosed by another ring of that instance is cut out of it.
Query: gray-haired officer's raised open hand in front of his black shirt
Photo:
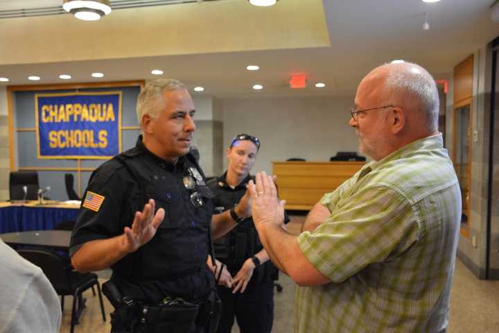
[[[132,228],[125,227],[125,237],[123,237],[123,246],[128,253],[134,252],[143,244],[146,244],[154,235],[156,230],[163,222],[164,209],[159,208],[156,214],[155,200],[150,199],[142,212],[135,212]]]

